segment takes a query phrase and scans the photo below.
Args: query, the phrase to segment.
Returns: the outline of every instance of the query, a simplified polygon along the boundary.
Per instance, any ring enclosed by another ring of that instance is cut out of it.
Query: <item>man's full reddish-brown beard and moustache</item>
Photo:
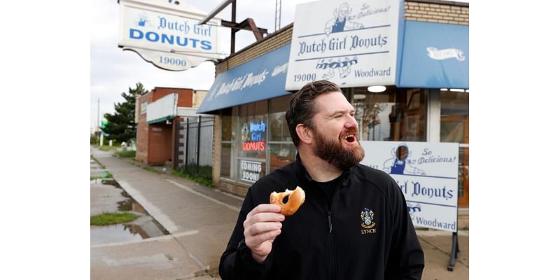
[[[313,148],[314,154],[342,171],[358,165],[363,160],[365,153],[360,142],[358,142],[358,133],[355,131],[350,133],[356,135],[354,141],[358,145],[348,150],[342,145],[341,139],[337,138],[330,141],[321,132],[316,131],[316,142]]]

